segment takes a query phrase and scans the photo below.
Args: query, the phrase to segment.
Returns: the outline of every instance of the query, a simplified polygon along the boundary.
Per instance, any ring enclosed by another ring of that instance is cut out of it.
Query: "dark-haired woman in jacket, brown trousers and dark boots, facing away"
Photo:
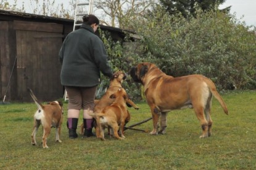
[[[80,110],[83,110],[83,136],[93,136],[94,98],[100,83],[100,71],[111,78],[112,69],[107,61],[104,44],[94,33],[99,19],[94,15],[85,15],[80,29],[68,34],[59,52],[62,63],[60,79],[68,94],[68,136],[78,137],[76,128]],[[89,109],[88,109],[89,108]]]

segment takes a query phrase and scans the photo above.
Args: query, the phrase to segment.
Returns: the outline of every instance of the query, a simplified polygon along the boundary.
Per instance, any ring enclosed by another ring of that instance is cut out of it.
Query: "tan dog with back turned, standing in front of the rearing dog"
[[[117,139],[124,139],[123,134],[125,123],[130,121],[130,114],[126,108],[126,102],[128,102],[129,97],[125,89],[120,88],[114,94],[110,95],[110,98],[115,99],[115,101],[110,105],[105,107],[101,113],[90,114],[97,120],[97,126],[101,131],[99,138],[103,141],[104,129],[111,128],[112,133]],[[120,125],[120,127],[118,126]],[[118,129],[120,128],[121,137],[118,136]]]

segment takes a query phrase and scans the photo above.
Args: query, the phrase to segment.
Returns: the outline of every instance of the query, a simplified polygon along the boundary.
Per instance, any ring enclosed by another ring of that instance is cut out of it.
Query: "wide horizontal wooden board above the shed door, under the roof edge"
[[[62,33],[63,25],[57,23],[37,23],[14,20],[14,29],[26,31],[42,31],[48,33]]]

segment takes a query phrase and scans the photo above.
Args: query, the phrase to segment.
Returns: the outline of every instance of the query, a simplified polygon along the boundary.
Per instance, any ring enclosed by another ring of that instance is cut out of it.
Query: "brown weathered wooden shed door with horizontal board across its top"
[[[59,50],[62,45],[62,25],[14,21],[17,44],[17,96],[30,101],[27,88],[38,99],[61,98]]]

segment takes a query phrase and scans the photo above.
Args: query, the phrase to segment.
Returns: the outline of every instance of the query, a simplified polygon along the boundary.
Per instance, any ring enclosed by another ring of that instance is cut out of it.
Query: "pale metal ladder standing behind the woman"
[[[83,20],[81,18],[86,14],[93,14],[93,1],[94,0],[85,0],[84,2],[80,2],[76,0],[73,31],[75,31],[76,26],[82,25],[81,23],[77,23],[78,20]],[[64,100],[68,100],[67,90],[64,92]]]

